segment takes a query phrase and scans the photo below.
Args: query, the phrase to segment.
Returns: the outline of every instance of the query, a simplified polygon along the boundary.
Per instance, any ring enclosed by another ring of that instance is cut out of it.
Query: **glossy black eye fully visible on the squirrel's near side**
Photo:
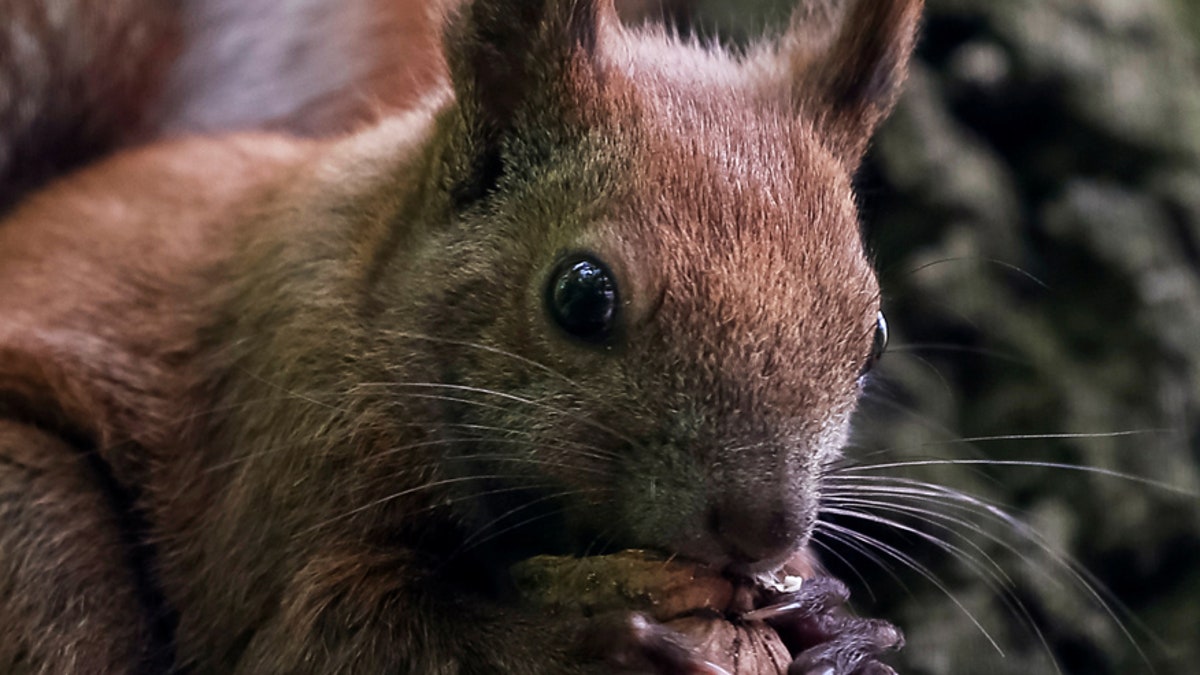
[[[546,304],[563,330],[587,342],[604,342],[617,316],[617,282],[600,261],[571,258],[551,276]]]

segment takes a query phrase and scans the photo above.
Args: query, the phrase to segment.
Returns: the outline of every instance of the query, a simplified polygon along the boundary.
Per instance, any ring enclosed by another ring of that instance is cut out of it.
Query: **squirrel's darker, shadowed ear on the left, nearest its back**
[[[505,136],[553,136],[587,108],[599,88],[596,43],[616,22],[613,0],[473,0],[457,10],[444,48],[467,155],[485,173],[473,190],[502,171]]]

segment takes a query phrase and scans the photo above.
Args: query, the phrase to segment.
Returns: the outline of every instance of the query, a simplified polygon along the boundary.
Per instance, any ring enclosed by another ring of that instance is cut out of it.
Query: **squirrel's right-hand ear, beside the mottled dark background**
[[[792,18],[784,54],[793,96],[830,149],[854,168],[892,112],[908,74],[923,0],[850,0],[840,20],[827,2]]]

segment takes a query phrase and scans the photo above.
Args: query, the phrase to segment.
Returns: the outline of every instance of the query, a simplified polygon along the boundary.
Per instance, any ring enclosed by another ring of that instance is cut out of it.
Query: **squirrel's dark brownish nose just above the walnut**
[[[709,530],[738,563],[754,565],[792,554],[811,518],[800,504],[775,500],[726,500],[709,512]]]

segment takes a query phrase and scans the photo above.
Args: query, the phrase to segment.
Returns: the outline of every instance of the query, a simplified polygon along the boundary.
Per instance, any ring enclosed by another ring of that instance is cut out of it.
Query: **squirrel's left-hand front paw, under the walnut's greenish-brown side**
[[[728,675],[697,655],[689,640],[641,613],[613,611],[588,622],[581,656],[614,671],[656,675]]]

